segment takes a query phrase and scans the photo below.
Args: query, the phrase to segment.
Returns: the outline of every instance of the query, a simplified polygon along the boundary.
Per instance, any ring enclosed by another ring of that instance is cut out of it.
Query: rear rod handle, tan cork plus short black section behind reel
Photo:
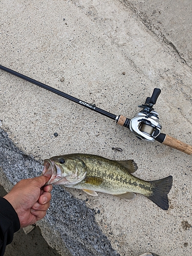
[[[181,152],[184,152],[187,155],[192,154],[192,146],[177,140],[169,135],[161,133],[157,138],[157,141],[161,142],[163,145],[175,148],[176,150],[179,150]]]

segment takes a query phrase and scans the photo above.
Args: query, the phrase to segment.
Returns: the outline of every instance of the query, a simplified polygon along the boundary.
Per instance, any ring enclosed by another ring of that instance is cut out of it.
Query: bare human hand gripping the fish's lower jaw
[[[21,180],[4,197],[17,212],[20,227],[27,227],[45,217],[52,185],[42,186],[50,178],[51,175]]]

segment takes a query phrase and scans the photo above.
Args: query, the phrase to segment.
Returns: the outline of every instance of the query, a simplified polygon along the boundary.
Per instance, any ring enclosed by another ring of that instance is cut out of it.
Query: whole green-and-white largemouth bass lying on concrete
[[[134,160],[110,160],[91,154],[68,154],[44,160],[42,175],[50,174],[46,183],[82,189],[91,196],[97,192],[131,200],[142,194],[163,210],[168,210],[168,193],[173,177],[145,181],[132,175],[137,170]]]

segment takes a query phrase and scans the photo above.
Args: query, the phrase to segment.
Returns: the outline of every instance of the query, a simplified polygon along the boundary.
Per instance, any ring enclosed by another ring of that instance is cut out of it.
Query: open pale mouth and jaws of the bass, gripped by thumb
[[[44,160],[44,169],[42,170],[42,175],[51,175],[50,180],[45,184],[45,186],[50,184],[57,184],[59,181],[65,179],[62,177],[61,169],[58,165],[55,164],[54,161],[50,159]],[[64,180],[63,180],[64,181]]]

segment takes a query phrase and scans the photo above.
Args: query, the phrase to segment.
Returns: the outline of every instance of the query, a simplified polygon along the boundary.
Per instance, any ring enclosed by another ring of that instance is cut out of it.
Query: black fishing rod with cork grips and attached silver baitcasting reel
[[[90,104],[80,99],[77,99],[69,94],[63,93],[55,88],[47,86],[44,83],[38,82],[28,76],[20,74],[4,66],[0,65],[0,69],[12,75],[15,75],[19,78],[22,78],[28,82],[31,82],[36,86],[44,88],[52,93],[60,95],[66,99],[72,100],[75,103],[85,106],[86,108],[92,111],[95,111],[101,115],[104,115],[106,117],[109,117],[115,120],[117,124],[130,129],[131,132],[133,132],[136,135],[136,137],[139,139],[143,139],[149,142],[154,142],[155,140],[157,140],[158,142],[164,145],[176,148],[177,150],[180,150],[188,155],[192,154],[192,146],[184,142],[181,142],[180,140],[177,140],[169,135],[161,133],[162,126],[159,123],[158,113],[155,112],[153,109],[153,105],[156,104],[156,101],[161,93],[161,90],[158,88],[154,89],[151,97],[146,98],[146,101],[144,104],[139,105],[139,108],[141,108],[142,110],[136,113],[132,119],[130,119],[122,115],[116,116],[110,112],[97,108],[95,104]]]

